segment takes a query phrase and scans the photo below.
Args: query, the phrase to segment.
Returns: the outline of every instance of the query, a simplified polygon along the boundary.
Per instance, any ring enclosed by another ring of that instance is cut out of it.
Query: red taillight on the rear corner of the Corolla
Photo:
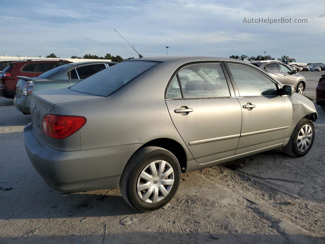
[[[86,118],[69,115],[45,115],[42,128],[46,135],[54,139],[71,136],[86,123]]]

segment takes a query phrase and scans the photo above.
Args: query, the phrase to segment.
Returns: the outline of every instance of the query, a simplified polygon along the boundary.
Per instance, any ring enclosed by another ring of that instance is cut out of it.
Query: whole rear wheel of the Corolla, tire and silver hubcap
[[[120,191],[132,208],[141,212],[156,210],[174,197],[180,175],[174,154],[161,147],[144,147],[127,163],[120,179]]]

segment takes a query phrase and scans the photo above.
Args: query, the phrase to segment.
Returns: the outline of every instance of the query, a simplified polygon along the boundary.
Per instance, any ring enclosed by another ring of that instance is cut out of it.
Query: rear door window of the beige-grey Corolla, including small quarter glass
[[[218,63],[191,65],[179,71],[178,76],[184,98],[230,97],[225,75]],[[168,91],[173,88],[177,88],[174,80]]]

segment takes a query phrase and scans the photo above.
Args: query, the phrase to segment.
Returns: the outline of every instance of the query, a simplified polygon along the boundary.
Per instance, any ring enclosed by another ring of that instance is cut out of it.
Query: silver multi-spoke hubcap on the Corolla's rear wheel
[[[173,167],[164,160],[155,160],[142,169],[136,191],[142,201],[157,203],[167,197],[173,184]]]

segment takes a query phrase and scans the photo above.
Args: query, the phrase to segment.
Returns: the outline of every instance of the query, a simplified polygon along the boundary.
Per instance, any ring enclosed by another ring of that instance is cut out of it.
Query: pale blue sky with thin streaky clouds
[[[325,2],[0,0],[0,56],[287,55],[325,62]],[[244,18],[308,23],[243,23]]]

